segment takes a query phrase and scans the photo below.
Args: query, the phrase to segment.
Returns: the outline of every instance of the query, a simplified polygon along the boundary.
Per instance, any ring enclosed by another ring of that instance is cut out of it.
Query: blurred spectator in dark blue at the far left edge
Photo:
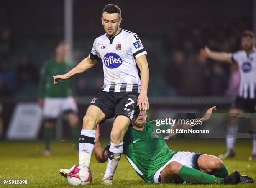
[[[11,70],[10,63],[4,59],[0,63],[0,95],[13,95],[16,87],[15,72]]]

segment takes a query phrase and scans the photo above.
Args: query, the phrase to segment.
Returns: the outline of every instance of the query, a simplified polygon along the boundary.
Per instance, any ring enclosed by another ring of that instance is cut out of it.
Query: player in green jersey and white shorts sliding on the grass
[[[200,119],[208,120],[215,108],[207,110],[204,117]],[[154,131],[151,131],[151,127],[155,124],[156,121],[146,122],[146,111],[141,110],[123,139],[123,154],[136,173],[147,183],[253,183],[252,178],[241,176],[239,171],[229,175],[225,164],[213,155],[170,150],[164,138],[152,136]],[[183,125],[184,129],[189,127],[190,125]],[[102,150],[99,142],[99,125],[95,131],[95,158],[99,163],[103,163],[108,160],[109,145]],[[173,135],[175,133],[169,134],[169,136]],[[60,170],[64,176],[67,176],[67,172],[67,169]]]

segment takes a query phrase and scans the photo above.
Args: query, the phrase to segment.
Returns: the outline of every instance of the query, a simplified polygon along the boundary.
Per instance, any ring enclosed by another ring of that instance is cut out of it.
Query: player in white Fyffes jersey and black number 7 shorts
[[[92,68],[102,60],[104,85],[92,99],[83,119],[79,143],[79,164],[90,165],[95,143],[95,126],[115,117],[110,139],[108,164],[103,185],[112,185],[112,179],[123,152],[123,136],[128,125],[138,115],[138,109],[149,108],[147,90],[149,70],[146,50],[136,33],[120,28],[121,10],[108,4],[102,11],[105,34],[96,38],[87,58],[64,75],[54,76],[54,83]],[[138,75],[136,64],[141,71]]]

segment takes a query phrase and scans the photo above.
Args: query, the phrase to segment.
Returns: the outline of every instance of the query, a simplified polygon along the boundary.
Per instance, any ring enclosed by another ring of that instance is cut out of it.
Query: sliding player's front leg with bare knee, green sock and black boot
[[[226,178],[218,178],[173,161],[164,168],[160,177],[163,183],[170,183],[170,179],[172,180],[171,182],[173,182],[175,176],[178,176],[188,183],[203,184],[237,184],[240,180],[240,173],[238,171],[233,172]]]

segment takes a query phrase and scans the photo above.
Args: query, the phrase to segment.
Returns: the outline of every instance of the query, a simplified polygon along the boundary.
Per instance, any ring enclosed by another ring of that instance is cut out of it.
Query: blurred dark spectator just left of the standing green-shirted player
[[[18,86],[22,87],[26,84],[36,84],[38,82],[38,70],[31,63],[28,54],[23,54],[17,67]]]

